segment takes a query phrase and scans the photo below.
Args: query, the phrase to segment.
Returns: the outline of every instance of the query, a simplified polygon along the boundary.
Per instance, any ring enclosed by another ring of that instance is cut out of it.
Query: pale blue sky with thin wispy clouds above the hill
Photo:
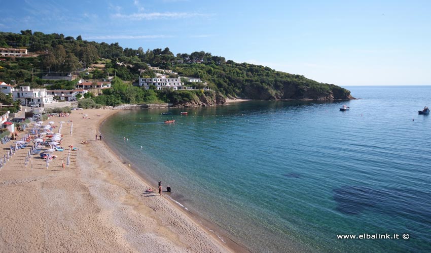
[[[210,52],[344,86],[431,85],[431,1],[0,0],[0,31]]]

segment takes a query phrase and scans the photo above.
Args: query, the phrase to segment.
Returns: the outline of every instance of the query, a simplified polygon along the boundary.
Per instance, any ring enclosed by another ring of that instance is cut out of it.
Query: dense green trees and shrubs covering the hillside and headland
[[[180,76],[199,77],[205,83],[186,83],[198,89],[208,88],[210,96],[245,97],[252,99],[348,99],[350,92],[335,85],[319,83],[302,75],[275,71],[269,67],[226,61],[211,53],[193,52],[176,54],[169,48],[144,51],[123,49],[118,45],[96,43],[63,34],[44,34],[23,30],[21,34],[0,32],[0,47],[27,48],[34,57],[4,57],[0,62],[0,80],[40,87],[42,76],[50,72],[74,72],[81,77],[106,78],[116,75],[119,79],[111,90],[92,99],[100,105],[121,103],[173,102],[181,104],[195,101],[199,92],[172,92],[143,90],[130,83],[139,76],[154,76],[148,64],[178,72]],[[104,68],[87,72],[93,63]],[[128,81],[122,83],[121,80]],[[72,89],[76,82],[53,82],[50,89]]]

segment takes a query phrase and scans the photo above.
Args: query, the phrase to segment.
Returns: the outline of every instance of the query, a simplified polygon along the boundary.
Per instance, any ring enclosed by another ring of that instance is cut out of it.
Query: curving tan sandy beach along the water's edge
[[[0,252],[246,251],[208,232],[158,192],[145,192],[157,182],[148,184],[95,140],[98,125],[115,112],[86,109],[45,121],[55,122],[54,133],[65,121],[65,150],[54,152],[48,169],[39,155],[24,166],[30,146],[9,159],[0,171]],[[1,145],[0,156],[13,142]],[[66,165],[70,145],[78,150]]]

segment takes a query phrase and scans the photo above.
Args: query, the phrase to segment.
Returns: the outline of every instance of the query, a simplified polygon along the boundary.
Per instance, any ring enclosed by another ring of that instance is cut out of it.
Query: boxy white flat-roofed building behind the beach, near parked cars
[[[29,86],[21,86],[12,90],[14,101],[20,100],[21,104],[51,104],[56,102],[53,95],[49,95],[46,89],[30,89]]]

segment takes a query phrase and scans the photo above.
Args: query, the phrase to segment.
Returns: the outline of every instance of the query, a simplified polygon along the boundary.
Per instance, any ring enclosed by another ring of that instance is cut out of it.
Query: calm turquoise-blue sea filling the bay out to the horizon
[[[362,99],[123,111],[101,132],[253,252],[431,251],[431,87],[346,88]],[[365,233],[400,239],[337,239]]]

